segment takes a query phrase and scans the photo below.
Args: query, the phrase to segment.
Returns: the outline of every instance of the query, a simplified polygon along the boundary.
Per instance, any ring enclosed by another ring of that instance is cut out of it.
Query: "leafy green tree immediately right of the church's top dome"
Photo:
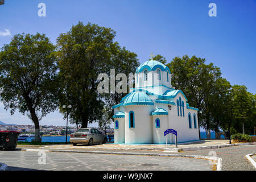
[[[210,130],[214,129],[212,117],[212,94],[216,81],[220,79],[220,69],[212,63],[205,64],[205,59],[187,55],[175,57],[167,64],[171,70],[172,86],[183,90],[188,98],[189,105],[197,107],[199,113],[199,125],[203,126],[207,137],[210,138]]]

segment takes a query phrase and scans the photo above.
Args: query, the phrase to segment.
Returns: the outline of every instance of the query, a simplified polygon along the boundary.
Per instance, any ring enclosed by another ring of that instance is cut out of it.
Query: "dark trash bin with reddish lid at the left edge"
[[[0,131],[0,147],[16,148],[19,134],[18,131]]]

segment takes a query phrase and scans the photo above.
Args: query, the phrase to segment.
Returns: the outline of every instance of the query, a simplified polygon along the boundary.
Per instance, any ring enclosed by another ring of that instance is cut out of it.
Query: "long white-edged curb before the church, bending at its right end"
[[[201,156],[201,155],[181,155],[181,154],[148,154],[148,153],[135,153],[135,152],[105,152],[105,151],[73,151],[73,150],[43,150],[43,149],[29,149],[22,148],[22,151],[44,151],[44,152],[74,152],[74,153],[85,153],[85,154],[117,154],[117,155],[146,155],[146,156],[168,156],[168,157],[182,157],[182,158],[195,158],[195,159],[207,159],[209,162],[217,162],[217,171],[221,171],[222,159],[212,156]]]

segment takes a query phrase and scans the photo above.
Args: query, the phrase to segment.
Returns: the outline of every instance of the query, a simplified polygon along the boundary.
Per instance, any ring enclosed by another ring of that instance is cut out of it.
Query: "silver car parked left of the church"
[[[76,146],[77,143],[88,143],[92,145],[93,143],[106,143],[107,137],[97,129],[84,128],[77,130],[76,133],[72,133],[69,140],[73,146]]]

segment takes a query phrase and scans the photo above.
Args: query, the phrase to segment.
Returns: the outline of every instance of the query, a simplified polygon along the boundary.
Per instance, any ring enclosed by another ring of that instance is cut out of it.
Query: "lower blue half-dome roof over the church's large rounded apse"
[[[154,102],[144,92],[134,92],[127,96],[123,106],[127,105],[154,105]]]

